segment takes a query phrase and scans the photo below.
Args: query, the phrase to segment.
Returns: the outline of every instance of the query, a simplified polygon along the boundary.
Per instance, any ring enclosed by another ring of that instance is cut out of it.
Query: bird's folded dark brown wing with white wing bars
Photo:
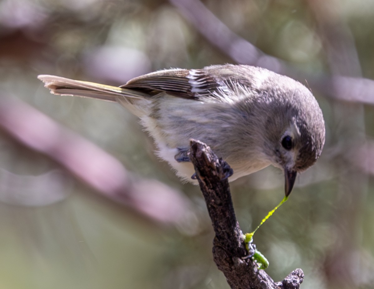
[[[176,97],[201,99],[219,97],[226,84],[204,69],[167,69],[133,78],[121,87],[150,96],[164,91]]]

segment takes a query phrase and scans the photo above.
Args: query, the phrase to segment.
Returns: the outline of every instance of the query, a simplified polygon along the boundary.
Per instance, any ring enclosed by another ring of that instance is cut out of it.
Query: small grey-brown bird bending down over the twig
[[[190,139],[206,143],[232,168],[229,181],[269,165],[281,169],[288,196],[298,173],[315,164],[325,143],[325,121],[300,82],[250,65],[163,69],[115,87],[39,75],[52,94],[118,102],[140,118],[156,155],[182,181],[191,176]]]

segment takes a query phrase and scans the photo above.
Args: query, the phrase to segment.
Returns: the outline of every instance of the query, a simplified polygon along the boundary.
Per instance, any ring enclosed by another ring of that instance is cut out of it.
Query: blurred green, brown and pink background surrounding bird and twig
[[[56,74],[125,84],[157,69],[263,66],[316,96],[327,140],[255,235],[283,280],[373,288],[374,2],[1,0],[0,288],[229,288],[198,187],[119,105],[53,96]],[[231,184],[243,231],[283,198],[267,168]]]

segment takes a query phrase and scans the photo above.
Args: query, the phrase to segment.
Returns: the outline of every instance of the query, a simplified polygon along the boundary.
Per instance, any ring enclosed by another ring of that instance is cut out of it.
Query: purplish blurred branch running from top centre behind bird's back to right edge
[[[331,98],[374,105],[374,80],[361,77],[306,74],[281,59],[267,55],[239,37],[199,0],[169,0],[208,41],[241,64],[261,66],[301,82]],[[340,71],[345,73],[348,70]]]

